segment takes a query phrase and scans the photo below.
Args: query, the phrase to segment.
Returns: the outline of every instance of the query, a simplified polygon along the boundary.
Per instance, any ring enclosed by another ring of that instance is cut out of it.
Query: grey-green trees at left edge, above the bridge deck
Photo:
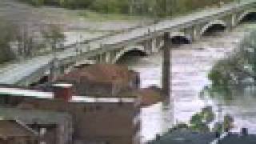
[[[34,26],[18,25],[5,18],[0,18],[0,21],[0,64],[48,53],[65,39],[57,25],[34,30]]]

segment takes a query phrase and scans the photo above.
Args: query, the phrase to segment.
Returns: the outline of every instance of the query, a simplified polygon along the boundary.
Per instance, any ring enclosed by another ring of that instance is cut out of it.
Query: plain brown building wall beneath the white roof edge
[[[82,142],[110,142],[132,144],[136,125],[134,115],[138,111],[134,103],[71,103],[61,100],[29,99],[35,109],[67,111],[74,118],[74,139]],[[137,126],[138,130],[138,126]]]

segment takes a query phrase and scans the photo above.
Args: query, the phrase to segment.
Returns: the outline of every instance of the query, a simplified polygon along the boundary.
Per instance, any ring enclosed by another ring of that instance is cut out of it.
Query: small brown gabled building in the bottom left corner
[[[0,120],[0,144],[38,144],[38,133],[17,120]]]

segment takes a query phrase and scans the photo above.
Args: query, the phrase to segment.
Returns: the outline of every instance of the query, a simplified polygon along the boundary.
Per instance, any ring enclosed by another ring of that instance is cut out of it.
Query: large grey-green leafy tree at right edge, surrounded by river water
[[[238,50],[219,61],[208,78],[214,87],[254,84],[256,80],[256,30],[247,35]]]

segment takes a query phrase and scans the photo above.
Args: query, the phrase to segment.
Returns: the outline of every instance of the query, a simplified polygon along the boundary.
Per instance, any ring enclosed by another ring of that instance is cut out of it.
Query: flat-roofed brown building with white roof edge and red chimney
[[[139,143],[140,110],[137,98],[73,96],[69,84],[57,84],[53,90],[39,92],[4,87],[0,88],[0,103],[25,110],[70,114],[74,123],[71,135],[77,144]]]

